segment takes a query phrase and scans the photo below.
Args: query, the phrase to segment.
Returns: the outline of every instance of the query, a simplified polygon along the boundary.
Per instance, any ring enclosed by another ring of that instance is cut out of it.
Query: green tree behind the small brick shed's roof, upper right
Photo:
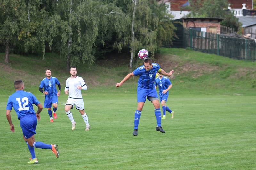
[[[228,10],[228,0],[189,0],[189,3],[190,6],[186,7],[190,10],[188,16],[224,18],[220,24],[234,28],[236,31],[241,26],[238,18]]]

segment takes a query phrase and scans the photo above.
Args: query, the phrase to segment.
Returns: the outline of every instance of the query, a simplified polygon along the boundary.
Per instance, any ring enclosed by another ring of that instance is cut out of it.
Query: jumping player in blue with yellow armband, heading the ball
[[[151,101],[155,107],[155,116],[156,116],[156,131],[160,131],[161,133],[165,133],[161,126],[161,110],[158,101],[157,92],[154,86],[156,73],[160,73],[166,76],[171,76],[174,72],[173,70],[169,73],[166,73],[157,63],[152,63],[151,59],[145,59],[144,65],[138,67],[132,73],[127,74],[124,79],[116,84],[116,87],[120,87],[123,85],[125,81],[130,79],[133,76],[139,75],[138,86],[137,86],[137,102],[138,107],[135,111],[134,116],[134,128],[133,135],[138,136],[138,125],[140,120],[141,111],[143,109],[144,103],[146,102],[146,98]]]

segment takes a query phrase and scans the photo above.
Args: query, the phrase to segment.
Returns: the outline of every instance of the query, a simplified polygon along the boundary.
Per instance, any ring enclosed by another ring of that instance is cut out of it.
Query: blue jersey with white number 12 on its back
[[[12,110],[13,107],[20,120],[25,115],[35,114],[33,104],[38,105],[39,103],[32,93],[18,90],[9,97],[6,110]]]

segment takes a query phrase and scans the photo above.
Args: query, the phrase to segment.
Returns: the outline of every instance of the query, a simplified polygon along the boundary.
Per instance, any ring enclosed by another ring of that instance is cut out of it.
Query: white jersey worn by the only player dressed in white
[[[68,88],[69,93],[68,93],[68,97],[70,98],[82,98],[82,94],[81,94],[81,90],[77,89],[78,86],[85,86],[85,82],[83,80],[82,77],[78,77],[76,76],[76,78],[71,79],[71,77],[69,77],[66,80],[66,88]]]

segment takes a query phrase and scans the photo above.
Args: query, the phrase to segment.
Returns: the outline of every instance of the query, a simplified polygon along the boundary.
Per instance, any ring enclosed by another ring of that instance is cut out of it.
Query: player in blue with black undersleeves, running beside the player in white
[[[45,70],[46,77],[41,81],[39,91],[45,94],[44,96],[44,108],[48,108],[48,114],[50,116],[50,122],[53,122],[52,118],[52,106],[53,117],[57,118],[58,97],[60,96],[60,82],[56,77],[52,77],[50,69]],[[58,85],[59,91],[57,92],[55,84]],[[44,91],[43,91],[44,88]]]

